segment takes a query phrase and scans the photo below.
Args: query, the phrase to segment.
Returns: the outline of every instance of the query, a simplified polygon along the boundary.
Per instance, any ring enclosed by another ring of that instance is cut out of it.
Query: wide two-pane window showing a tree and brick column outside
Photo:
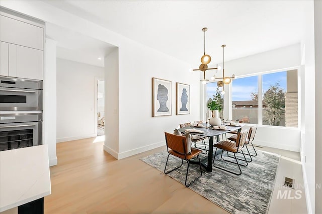
[[[297,70],[236,79],[231,105],[233,120],[298,127]]]

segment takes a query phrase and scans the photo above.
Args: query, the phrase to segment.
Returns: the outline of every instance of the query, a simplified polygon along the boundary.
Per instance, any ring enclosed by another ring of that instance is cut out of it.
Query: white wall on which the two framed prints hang
[[[124,41],[119,48],[119,158],[164,146],[165,131],[172,133],[180,123],[200,119],[199,73],[189,73],[189,67]],[[172,81],[172,116],[152,117],[152,77]],[[190,114],[176,115],[176,82],[190,85]]]

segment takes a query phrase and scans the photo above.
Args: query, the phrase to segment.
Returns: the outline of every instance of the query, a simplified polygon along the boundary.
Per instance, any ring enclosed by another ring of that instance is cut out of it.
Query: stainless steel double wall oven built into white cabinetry
[[[0,151],[42,144],[43,82],[0,76]]]

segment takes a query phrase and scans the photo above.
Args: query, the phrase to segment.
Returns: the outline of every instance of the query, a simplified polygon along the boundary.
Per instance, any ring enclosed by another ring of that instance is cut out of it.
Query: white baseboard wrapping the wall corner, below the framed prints
[[[104,150],[106,152],[110,153],[113,157],[115,157],[116,159],[119,160],[119,159],[123,159],[123,158],[129,157],[129,156],[139,154],[139,153],[142,153],[142,152],[145,152],[145,151],[149,151],[151,149],[155,149],[155,148],[165,146],[165,145],[166,145],[166,141],[161,141],[161,142],[153,143],[153,144],[150,144],[150,145],[147,145],[147,146],[142,146],[142,147],[135,148],[135,149],[132,149],[132,150],[124,151],[124,152],[121,152],[121,153],[117,153],[113,149],[111,149],[108,146],[104,145]]]

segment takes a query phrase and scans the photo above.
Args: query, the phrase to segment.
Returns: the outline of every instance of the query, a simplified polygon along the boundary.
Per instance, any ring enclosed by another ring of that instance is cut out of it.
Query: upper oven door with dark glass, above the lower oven
[[[42,90],[0,87],[1,111],[42,110]]]

